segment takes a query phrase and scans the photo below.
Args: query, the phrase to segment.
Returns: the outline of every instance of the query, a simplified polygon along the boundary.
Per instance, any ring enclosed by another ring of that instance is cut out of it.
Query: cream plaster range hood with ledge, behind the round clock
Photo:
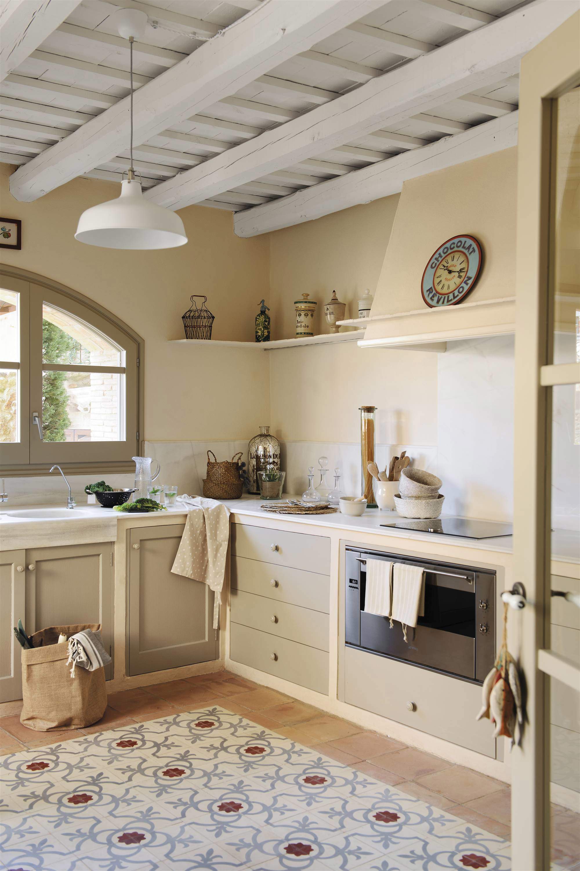
[[[430,346],[515,332],[517,149],[431,172],[403,185],[366,321],[362,348]],[[483,251],[477,285],[463,302],[430,308],[423,270],[453,236],[474,236]]]

